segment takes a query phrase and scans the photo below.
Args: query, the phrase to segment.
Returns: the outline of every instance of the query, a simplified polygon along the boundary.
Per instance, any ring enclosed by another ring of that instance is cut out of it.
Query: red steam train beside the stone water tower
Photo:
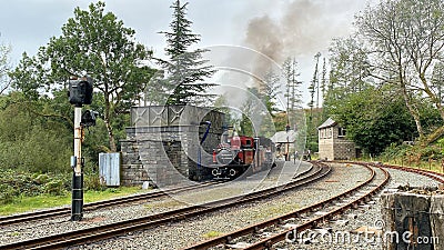
[[[264,137],[232,137],[225,131],[221,143],[213,150],[209,168],[213,179],[235,179],[242,174],[252,174],[275,166],[275,146]]]

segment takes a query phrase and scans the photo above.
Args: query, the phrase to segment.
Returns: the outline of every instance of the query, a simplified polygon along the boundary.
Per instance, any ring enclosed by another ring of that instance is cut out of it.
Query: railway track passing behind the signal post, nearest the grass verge
[[[221,181],[223,182],[223,181]],[[167,197],[173,193],[178,192],[183,192],[183,191],[191,191],[209,186],[214,186],[221,182],[205,182],[205,183],[199,183],[199,184],[193,184],[193,186],[188,186],[188,187],[179,187],[179,188],[172,188],[168,190],[160,190],[160,191],[154,191],[154,192],[149,192],[149,193],[142,193],[142,194],[135,194],[135,196],[130,196],[130,197],[122,197],[122,198],[117,198],[117,199],[111,199],[111,200],[104,200],[104,201],[98,201],[98,202],[91,202],[87,203],[83,206],[84,211],[92,211],[101,208],[110,208],[112,206],[122,206],[122,204],[129,204],[129,203],[134,203],[134,202],[140,202],[140,201],[147,201],[150,199],[154,198],[160,198],[160,197]],[[71,214],[71,208],[64,207],[64,208],[56,208],[56,209],[46,209],[41,211],[36,211],[36,212],[27,212],[27,213],[20,213],[20,214],[14,214],[14,216],[7,216],[7,217],[0,217],[0,227],[6,227],[6,226],[11,226],[16,223],[21,223],[21,222],[30,222],[34,220],[42,220],[42,219],[48,219],[48,218],[54,218],[54,217],[61,217],[61,216],[69,216]]]

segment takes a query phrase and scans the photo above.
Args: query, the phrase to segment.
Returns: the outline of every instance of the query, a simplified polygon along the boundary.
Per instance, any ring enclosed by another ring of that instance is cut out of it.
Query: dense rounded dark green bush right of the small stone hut
[[[347,129],[347,138],[367,153],[381,153],[391,143],[416,136],[402,97],[393,89],[371,87],[333,106],[332,116]]]

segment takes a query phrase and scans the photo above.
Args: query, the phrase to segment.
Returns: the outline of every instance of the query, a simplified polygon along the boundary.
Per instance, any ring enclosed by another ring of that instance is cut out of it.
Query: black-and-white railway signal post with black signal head
[[[74,156],[71,157],[72,173],[72,203],[71,221],[83,218],[83,166],[82,158],[82,106],[91,104],[92,80],[90,78],[71,79],[69,82],[69,101],[74,106]]]

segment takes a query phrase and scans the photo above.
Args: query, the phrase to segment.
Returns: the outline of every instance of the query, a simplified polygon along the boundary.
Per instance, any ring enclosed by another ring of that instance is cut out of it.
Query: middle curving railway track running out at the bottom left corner
[[[212,202],[206,202],[198,206],[190,206],[182,209],[176,209],[168,212],[158,214],[141,217],[138,219],[109,223],[105,226],[70,231],[60,234],[53,234],[42,237],[38,239],[30,239],[27,241],[14,242],[10,244],[0,246],[0,249],[58,249],[64,247],[72,247],[80,243],[99,241],[123,234],[131,231],[137,231],[159,224],[164,224],[172,221],[183,220],[200,216],[203,213],[212,212],[215,210],[238,206],[250,201],[260,200],[270,196],[275,196],[284,191],[292,190],[297,187],[303,187],[326,177],[331,168],[322,163],[314,163],[315,169],[312,169],[310,173],[304,177],[299,177],[292,182],[276,186],[269,189],[259,190],[241,197],[232,197],[228,199],[221,199]]]

